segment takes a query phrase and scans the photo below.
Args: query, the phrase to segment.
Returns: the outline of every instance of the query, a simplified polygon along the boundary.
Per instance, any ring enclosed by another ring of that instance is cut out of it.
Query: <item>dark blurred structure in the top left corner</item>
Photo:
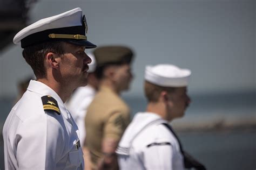
[[[29,20],[29,10],[38,0],[0,0],[0,51]]]

